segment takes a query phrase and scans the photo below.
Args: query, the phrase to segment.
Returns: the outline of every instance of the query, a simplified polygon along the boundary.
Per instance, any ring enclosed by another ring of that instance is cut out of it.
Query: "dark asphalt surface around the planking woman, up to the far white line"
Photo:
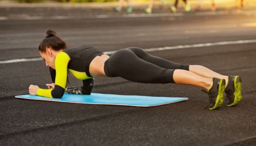
[[[27,94],[30,84],[51,83],[48,69],[43,61],[0,63],[0,145],[255,145],[256,43],[205,45],[254,40],[255,22],[251,10],[0,20],[0,61],[39,57],[38,44],[50,28],[69,46],[89,44],[103,52],[204,44],[150,54],[240,75],[244,98],[236,107],[211,111],[199,87],[99,78],[96,93],[189,100],[152,108],[20,100],[14,95]],[[81,82],[71,78],[71,85]]]

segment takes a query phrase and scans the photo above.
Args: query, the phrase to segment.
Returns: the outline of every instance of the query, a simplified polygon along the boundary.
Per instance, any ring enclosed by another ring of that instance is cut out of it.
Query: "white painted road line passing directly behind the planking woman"
[[[228,44],[244,44],[244,43],[256,43],[256,39],[251,40],[237,40],[237,41],[221,41],[221,42],[209,42],[209,43],[198,43],[198,44],[188,44],[188,45],[177,45],[177,46],[165,46],[165,47],[157,47],[157,48],[146,48],[144,51],[146,52],[154,52],[154,51],[164,51],[164,50],[175,50],[181,48],[191,48],[191,47],[206,47],[206,46],[216,46],[216,45],[228,45]],[[103,52],[104,54],[114,54],[116,51],[107,51]],[[0,64],[6,63],[15,63],[15,62],[28,62],[28,61],[38,61],[42,60],[41,58],[22,58],[22,59],[11,59],[0,61]]]

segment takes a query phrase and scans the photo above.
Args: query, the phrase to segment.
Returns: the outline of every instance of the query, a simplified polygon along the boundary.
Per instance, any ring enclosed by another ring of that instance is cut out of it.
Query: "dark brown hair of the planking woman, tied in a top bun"
[[[40,52],[46,52],[47,47],[52,47],[53,50],[58,51],[67,48],[66,42],[57,36],[57,33],[52,29],[46,32],[46,38],[44,38],[39,44],[38,50]]]

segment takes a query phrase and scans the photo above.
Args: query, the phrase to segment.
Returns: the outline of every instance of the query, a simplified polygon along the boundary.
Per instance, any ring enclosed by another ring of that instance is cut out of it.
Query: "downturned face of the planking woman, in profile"
[[[53,55],[51,48],[46,48],[46,52],[39,51],[42,60],[46,62],[47,67],[55,69],[55,56]]]

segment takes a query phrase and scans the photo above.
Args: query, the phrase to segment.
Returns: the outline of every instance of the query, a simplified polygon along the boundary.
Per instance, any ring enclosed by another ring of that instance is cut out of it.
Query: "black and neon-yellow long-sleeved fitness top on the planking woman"
[[[38,89],[37,95],[47,98],[60,99],[66,88],[68,71],[79,79],[93,78],[89,72],[89,66],[96,56],[103,55],[97,48],[79,45],[61,51],[55,58],[55,87],[54,89]]]

